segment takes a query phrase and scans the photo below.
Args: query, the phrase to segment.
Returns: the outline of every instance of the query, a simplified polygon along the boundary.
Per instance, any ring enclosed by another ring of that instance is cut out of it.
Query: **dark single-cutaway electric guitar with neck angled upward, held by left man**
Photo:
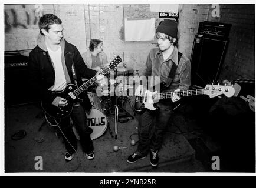
[[[120,62],[122,62],[122,59],[119,56],[116,56],[116,58],[114,58],[114,60],[110,62],[110,65],[101,70],[99,74],[105,75],[107,72],[109,72],[110,69],[115,68]],[[93,78],[88,80],[79,88],[78,86],[70,83],[65,87],[63,91],[54,92],[58,93],[57,96],[60,96],[61,98],[67,100],[66,106],[55,106],[51,103],[42,102],[42,108],[45,110],[46,113],[48,113],[48,115],[57,119],[63,119],[64,117],[67,117],[72,112],[73,105],[83,101],[83,99],[78,98],[78,95],[86,90],[88,87],[93,85],[94,82],[96,82],[96,76],[97,75],[93,76]]]

